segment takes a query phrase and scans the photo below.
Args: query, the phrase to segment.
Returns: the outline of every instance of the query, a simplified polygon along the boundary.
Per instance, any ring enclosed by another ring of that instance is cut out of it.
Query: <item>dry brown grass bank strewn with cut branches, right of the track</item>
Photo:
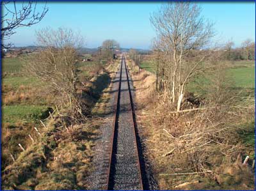
[[[167,97],[154,91],[154,76],[143,71],[132,79],[140,132],[161,190],[253,189],[252,167],[242,165],[242,159],[236,162],[240,153],[247,153],[236,131],[253,119],[253,102],[235,109],[234,95],[209,89],[208,109],[177,115]],[[188,172],[196,174],[175,175]],[[178,186],[184,182],[188,184]]]

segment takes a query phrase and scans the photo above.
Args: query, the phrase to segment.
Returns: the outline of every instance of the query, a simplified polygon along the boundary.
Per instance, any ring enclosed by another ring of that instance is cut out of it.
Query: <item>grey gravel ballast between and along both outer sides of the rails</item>
[[[125,71],[124,59],[122,59],[122,81],[120,84],[120,102],[118,106],[116,118],[116,132],[113,146],[112,167],[109,176],[109,190],[141,190],[140,170],[138,167],[138,156],[136,153],[136,142],[134,139],[134,123],[132,119],[132,105],[130,103],[130,95],[128,89],[128,82],[131,88],[131,96],[134,97],[134,88],[132,86],[132,79]],[[121,63],[121,61],[120,61]],[[121,65],[119,67],[121,69]],[[109,105],[111,112],[106,116],[104,125],[100,127],[100,136],[96,141],[95,155],[93,157],[93,166],[95,167],[88,178],[90,190],[104,190],[107,188],[108,182],[108,167],[109,157],[111,154],[111,140],[113,134],[113,121],[115,119],[116,99],[118,95],[118,88],[120,82],[120,69],[116,72],[115,78],[111,81],[111,99]],[[135,121],[135,114],[134,114]],[[136,126],[136,123],[135,123]],[[137,127],[136,127],[137,128]],[[138,133],[138,130],[136,129]],[[150,169],[143,157],[143,150],[140,148],[140,137],[136,134],[138,152],[141,163],[141,176],[143,178],[143,188],[146,190],[156,189],[157,184],[151,177]]]

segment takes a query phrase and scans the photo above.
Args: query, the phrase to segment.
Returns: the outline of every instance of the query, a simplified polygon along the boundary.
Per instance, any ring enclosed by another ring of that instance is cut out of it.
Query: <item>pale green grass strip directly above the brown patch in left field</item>
[[[5,77],[2,79],[3,85],[19,88],[20,86],[41,86],[42,82],[35,77]]]

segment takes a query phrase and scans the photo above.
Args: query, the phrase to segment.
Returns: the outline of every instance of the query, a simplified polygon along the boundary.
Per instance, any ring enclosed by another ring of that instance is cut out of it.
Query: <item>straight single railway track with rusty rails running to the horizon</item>
[[[129,75],[122,56],[106,190],[143,190]]]

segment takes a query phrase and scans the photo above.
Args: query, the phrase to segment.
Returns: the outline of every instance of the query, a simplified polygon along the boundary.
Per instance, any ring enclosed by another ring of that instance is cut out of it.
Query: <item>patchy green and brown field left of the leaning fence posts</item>
[[[47,95],[44,93],[45,84],[35,77],[24,76],[20,57],[4,58],[2,79],[2,155],[1,167],[4,170],[12,164],[12,158],[18,158],[24,148],[31,145],[28,134],[35,138],[33,129],[37,126],[41,130],[39,120],[49,116]]]

